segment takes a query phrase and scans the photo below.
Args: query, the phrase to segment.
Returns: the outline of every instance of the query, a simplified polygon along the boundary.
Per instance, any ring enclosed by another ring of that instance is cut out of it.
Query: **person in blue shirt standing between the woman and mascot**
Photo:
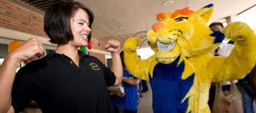
[[[140,79],[132,76],[124,65],[124,52],[120,53],[121,62],[123,65],[123,82],[124,97],[113,96],[113,106],[116,113],[137,113],[138,109],[138,85]]]

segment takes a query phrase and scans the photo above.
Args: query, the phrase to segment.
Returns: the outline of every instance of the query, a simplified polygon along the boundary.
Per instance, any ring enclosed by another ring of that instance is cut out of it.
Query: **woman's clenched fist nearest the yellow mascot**
[[[118,53],[120,49],[120,42],[116,39],[110,39],[108,40],[108,43],[105,45],[105,49],[109,52],[115,52]]]

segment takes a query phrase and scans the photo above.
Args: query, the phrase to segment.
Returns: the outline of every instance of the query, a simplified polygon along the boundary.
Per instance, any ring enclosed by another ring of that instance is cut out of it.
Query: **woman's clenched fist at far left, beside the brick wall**
[[[10,55],[18,61],[29,63],[40,58],[43,52],[42,43],[38,42],[37,39],[31,38],[10,52]]]

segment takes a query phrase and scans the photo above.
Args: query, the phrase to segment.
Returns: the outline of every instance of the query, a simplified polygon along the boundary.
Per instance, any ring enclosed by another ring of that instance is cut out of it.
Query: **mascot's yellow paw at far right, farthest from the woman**
[[[223,28],[222,32],[227,36],[227,39],[231,39],[235,42],[242,42],[246,39],[249,33],[253,33],[252,29],[250,29],[246,23],[241,22],[228,24]]]

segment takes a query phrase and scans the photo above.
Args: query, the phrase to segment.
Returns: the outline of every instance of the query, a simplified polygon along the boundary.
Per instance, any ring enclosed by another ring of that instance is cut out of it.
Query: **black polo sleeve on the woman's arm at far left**
[[[24,111],[34,95],[34,87],[29,76],[18,71],[12,86],[12,106],[15,112]]]

